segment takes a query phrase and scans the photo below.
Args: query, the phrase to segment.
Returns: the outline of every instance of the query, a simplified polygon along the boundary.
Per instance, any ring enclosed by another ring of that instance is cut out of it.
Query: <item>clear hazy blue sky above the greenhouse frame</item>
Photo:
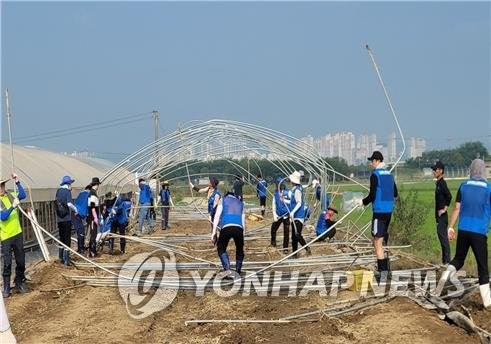
[[[11,92],[19,144],[133,152],[152,140],[151,115],[138,114],[153,109],[162,133],[226,118],[384,142],[395,127],[368,43],[407,137],[490,147],[489,2],[1,6],[2,92]],[[20,140],[93,123],[102,129]]]

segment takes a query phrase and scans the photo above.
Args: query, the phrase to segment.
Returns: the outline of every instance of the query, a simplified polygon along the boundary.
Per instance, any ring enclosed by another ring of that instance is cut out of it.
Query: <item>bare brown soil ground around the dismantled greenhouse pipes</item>
[[[173,225],[170,231],[158,230],[154,236],[208,234],[208,226],[204,221],[183,221]],[[278,234],[280,242],[281,230]],[[246,241],[246,259],[281,258],[283,255],[268,248],[268,243],[268,240]],[[208,250],[196,253],[200,258],[217,260],[216,251],[209,243],[185,245]],[[103,254],[97,261],[124,262],[133,253],[152,249],[137,243],[128,246],[125,255]],[[313,250],[314,255],[332,252],[330,245]],[[232,259],[234,256],[231,253]],[[73,287],[62,274],[102,275],[93,269],[65,268],[57,262],[33,267],[29,276],[31,291],[5,300],[13,332],[20,343],[479,343],[477,335],[447,324],[437,313],[405,298],[395,298],[340,318],[318,317],[315,322],[184,324],[192,319],[278,319],[321,309],[335,301],[319,296],[318,292],[305,297],[253,294],[220,298],[211,292],[198,297],[194,292],[179,291],[166,309],[143,320],[134,320],[116,288]],[[53,290],[65,287],[68,289]],[[352,298],[353,293],[343,291],[338,298]],[[474,321],[489,331],[490,312],[482,310],[479,295],[474,293],[464,302]]]

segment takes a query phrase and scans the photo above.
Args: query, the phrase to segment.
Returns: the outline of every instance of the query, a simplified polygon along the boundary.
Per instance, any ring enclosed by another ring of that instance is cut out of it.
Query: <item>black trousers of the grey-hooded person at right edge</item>
[[[455,257],[450,264],[455,266],[457,270],[462,268],[469,247],[472,248],[474,257],[476,257],[479,284],[488,284],[488,240],[485,235],[459,230]]]

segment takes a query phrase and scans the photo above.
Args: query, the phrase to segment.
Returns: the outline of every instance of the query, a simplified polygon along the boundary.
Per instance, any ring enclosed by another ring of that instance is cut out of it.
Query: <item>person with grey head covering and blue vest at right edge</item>
[[[439,296],[445,282],[462,268],[469,248],[472,248],[477,262],[479,292],[486,309],[491,309],[488,270],[488,232],[491,219],[491,184],[486,180],[486,165],[483,160],[471,162],[470,178],[460,184],[455,205],[450,216],[448,237],[455,239],[453,226],[458,223],[455,257],[443,272],[436,295]]]

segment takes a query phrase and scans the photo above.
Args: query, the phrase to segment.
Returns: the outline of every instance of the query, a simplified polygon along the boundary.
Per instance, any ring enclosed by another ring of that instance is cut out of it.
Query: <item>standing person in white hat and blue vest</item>
[[[300,172],[293,172],[288,178],[292,184],[290,200],[290,222],[292,223],[292,249],[295,252],[298,249],[298,243],[305,246],[307,242],[302,236],[303,224],[305,221],[305,195],[303,192],[300,179]],[[305,247],[307,254],[311,254],[310,247]],[[295,258],[297,255],[294,256]]]

